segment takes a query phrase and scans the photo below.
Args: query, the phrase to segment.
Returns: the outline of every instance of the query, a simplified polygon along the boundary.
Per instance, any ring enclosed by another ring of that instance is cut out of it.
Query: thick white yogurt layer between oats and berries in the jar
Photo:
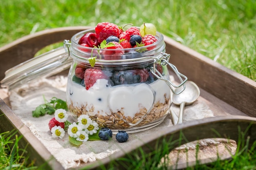
[[[88,109],[94,106],[95,114],[110,115],[111,112],[123,110],[125,116],[134,117],[140,108],[149,110],[156,102],[164,103],[170,98],[170,88],[166,82],[156,80],[151,84],[132,84],[108,86],[108,80],[98,79],[88,90],[80,84],[67,82],[67,105],[82,106]],[[154,100],[155,99],[155,100]]]

